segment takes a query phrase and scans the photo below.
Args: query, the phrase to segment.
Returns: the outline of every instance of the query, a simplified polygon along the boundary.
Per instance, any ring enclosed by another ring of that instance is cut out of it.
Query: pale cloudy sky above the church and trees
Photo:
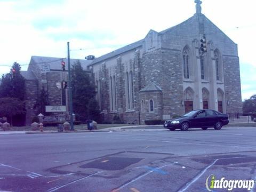
[[[238,44],[242,100],[256,94],[254,0],[202,0],[202,13]],[[194,0],[0,0],[0,74],[31,55],[100,57],[195,13]]]

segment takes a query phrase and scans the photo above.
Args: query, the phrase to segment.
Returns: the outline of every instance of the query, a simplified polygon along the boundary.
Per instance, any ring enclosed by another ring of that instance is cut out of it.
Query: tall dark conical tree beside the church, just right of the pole
[[[95,119],[100,112],[98,103],[95,101],[95,86],[79,60],[71,68],[71,80],[74,112],[82,121],[89,118]]]

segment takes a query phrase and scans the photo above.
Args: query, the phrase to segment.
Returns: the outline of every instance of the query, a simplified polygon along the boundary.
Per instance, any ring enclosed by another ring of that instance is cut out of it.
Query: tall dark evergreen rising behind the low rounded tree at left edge
[[[0,85],[0,98],[17,98],[24,100],[25,97],[25,79],[20,74],[20,65],[14,62],[10,73],[2,75]]]

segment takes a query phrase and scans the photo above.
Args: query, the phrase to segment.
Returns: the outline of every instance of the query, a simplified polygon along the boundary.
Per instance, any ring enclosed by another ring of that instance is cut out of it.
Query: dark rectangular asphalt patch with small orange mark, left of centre
[[[141,161],[141,158],[108,157],[86,163],[79,167],[116,171],[125,169],[127,166],[138,163],[139,161]]]

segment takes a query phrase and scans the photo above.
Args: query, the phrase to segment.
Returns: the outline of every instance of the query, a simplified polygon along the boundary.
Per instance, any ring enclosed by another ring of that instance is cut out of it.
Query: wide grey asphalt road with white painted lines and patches
[[[211,174],[256,180],[255,138],[255,127],[0,135],[0,191],[207,191]]]

